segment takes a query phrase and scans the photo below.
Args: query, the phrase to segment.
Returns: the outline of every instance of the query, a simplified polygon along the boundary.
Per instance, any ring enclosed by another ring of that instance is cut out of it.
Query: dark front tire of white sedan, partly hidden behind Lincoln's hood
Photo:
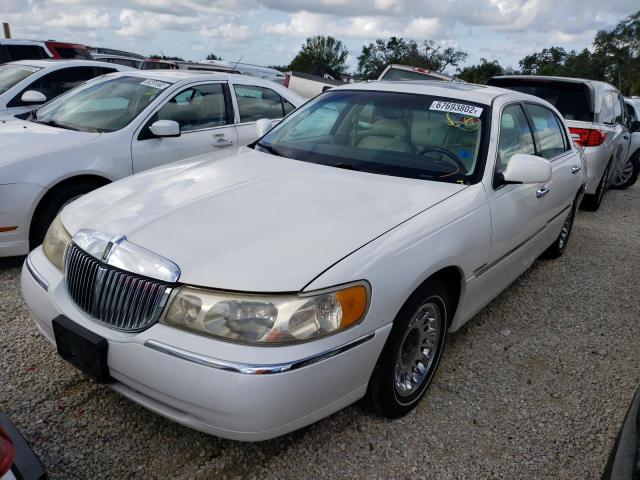
[[[41,245],[44,236],[49,229],[49,225],[56,218],[56,215],[60,213],[63,207],[76,198],[95,190],[100,187],[100,184],[82,182],[68,186],[62,186],[57,188],[47,196],[45,196],[31,221],[31,229],[29,230],[29,249],[33,250],[38,245]]]

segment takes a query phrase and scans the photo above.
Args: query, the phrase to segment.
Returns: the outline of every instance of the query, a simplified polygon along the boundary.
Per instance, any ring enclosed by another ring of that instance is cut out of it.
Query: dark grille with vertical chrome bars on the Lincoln
[[[84,312],[107,326],[144,330],[160,318],[172,284],[100,262],[71,244],[65,259],[69,295]]]

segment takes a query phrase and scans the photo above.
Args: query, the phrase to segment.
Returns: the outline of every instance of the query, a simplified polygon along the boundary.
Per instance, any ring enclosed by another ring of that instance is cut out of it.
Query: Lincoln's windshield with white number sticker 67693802
[[[257,144],[275,155],[396,177],[470,183],[486,106],[395,92],[326,92]]]

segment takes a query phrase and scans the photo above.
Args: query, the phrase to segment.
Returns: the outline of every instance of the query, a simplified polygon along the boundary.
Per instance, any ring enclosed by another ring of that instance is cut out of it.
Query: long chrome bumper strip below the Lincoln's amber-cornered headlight
[[[234,373],[244,373],[248,375],[270,375],[275,373],[290,372],[292,370],[297,370],[299,368],[321,362],[322,360],[335,357],[336,355],[339,355],[343,352],[351,350],[352,348],[362,345],[365,342],[368,342],[373,337],[375,337],[375,335],[375,332],[372,332],[368,335],[357,338],[352,342],[300,360],[266,365],[255,365],[249,363],[237,363],[218,360],[216,358],[211,358],[197,353],[189,352],[187,350],[182,350],[181,348],[172,347],[171,345],[167,345],[156,340],[147,340],[146,342],[144,342],[144,346],[152,350],[171,355],[172,357],[179,358],[181,360],[186,360],[188,362],[196,363],[205,367],[215,368],[218,370],[225,370],[227,372]]]

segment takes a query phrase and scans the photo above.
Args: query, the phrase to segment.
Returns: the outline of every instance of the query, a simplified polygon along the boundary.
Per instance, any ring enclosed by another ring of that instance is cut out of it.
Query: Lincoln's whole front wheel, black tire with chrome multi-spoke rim
[[[365,401],[370,410],[399,418],[420,402],[440,363],[451,311],[447,289],[437,280],[427,281],[405,302],[369,380]],[[425,345],[432,348],[421,348]]]

